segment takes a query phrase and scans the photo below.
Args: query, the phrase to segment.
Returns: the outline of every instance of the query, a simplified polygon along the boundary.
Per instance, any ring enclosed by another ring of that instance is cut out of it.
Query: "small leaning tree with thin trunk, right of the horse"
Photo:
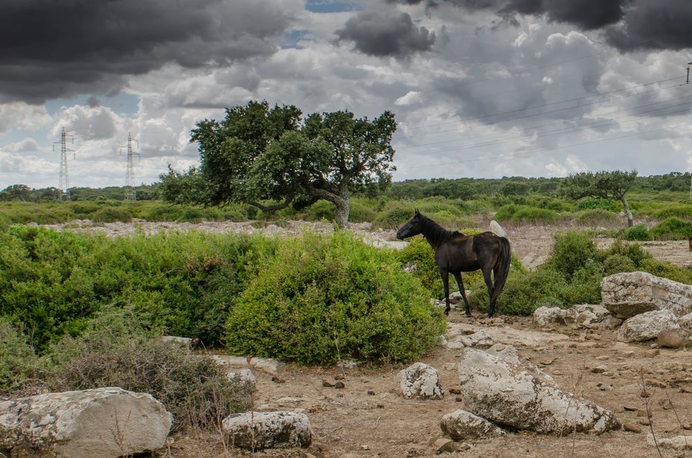
[[[571,174],[564,181],[561,192],[563,195],[572,199],[581,199],[581,197],[601,197],[609,201],[621,201],[623,210],[627,217],[627,226],[632,227],[634,220],[630,205],[625,198],[625,194],[635,185],[637,171],[621,172],[581,172]]]

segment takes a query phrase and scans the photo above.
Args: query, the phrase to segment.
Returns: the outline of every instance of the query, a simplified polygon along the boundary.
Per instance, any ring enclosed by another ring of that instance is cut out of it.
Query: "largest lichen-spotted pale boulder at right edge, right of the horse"
[[[692,312],[692,285],[673,282],[646,272],[616,273],[601,282],[603,306],[617,318],[653,310],[675,316]]]

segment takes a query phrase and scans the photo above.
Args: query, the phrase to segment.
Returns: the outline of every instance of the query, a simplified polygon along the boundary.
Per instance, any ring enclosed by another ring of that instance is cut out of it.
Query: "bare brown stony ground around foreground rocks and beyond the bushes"
[[[185,229],[191,225],[136,223],[139,230]],[[315,230],[329,230],[312,223]],[[93,227],[73,223],[71,229],[105,230],[109,234],[133,232],[133,225],[115,223]],[[201,230],[215,232],[258,230],[249,223],[205,223]],[[264,232],[291,234],[300,228],[268,226]],[[374,244],[390,244],[393,231],[369,232],[367,225],[354,230]],[[520,259],[549,254],[552,228],[525,226],[508,230]],[[599,246],[612,240],[599,239]],[[645,242],[655,257],[689,265],[687,242]],[[617,342],[617,331],[594,331],[572,326],[536,329],[531,318],[500,315],[487,320],[475,312],[464,318],[453,309],[450,327],[467,332],[485,329],[495,342],[514,345],[520,358],[538,365],[564,390],[575,392],[612,410],[627,430],[604,434],[535,434],[511,432],[505,437],[478,439],[459,445],[455,457],[683,457],[692,451],[657,448],[657,440],[689,434],[692,446],[692,351],[658,348],[650,342]],[[403,399],[399,371],[405,366],[297,367],[284,365],[280,377],[256,372],[255,409],[299,410],[313,428],[313,444],[306,450],[241,452],[224,446],[220,434],[187,434],[172,437],[160,456],[173,457],[428,457],[437,455],[435,441],[443,437],[439,419],[464,408],[459,396],[457,363],[461,350],[440,348],[420,360],[440,374],[444,399]],[[341,382],[343,387],[339,387]],[[651,412],[648,421],[647,409]],[[309,455],[311,454],[311,455]]]

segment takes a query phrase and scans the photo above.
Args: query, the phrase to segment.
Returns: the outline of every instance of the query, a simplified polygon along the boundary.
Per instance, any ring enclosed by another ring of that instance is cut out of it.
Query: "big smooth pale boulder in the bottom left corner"
[[[121,457],[165,445],[173,416],[150,394],[118,387],[0,403],[0,450],[12,457]]]

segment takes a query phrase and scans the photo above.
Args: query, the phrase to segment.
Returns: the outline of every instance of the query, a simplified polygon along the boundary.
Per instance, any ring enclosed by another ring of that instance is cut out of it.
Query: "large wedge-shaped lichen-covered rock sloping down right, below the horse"
[[[466,410],[507,428],[600,433],[620,427],[612,412],[563,391],[511,346],[464,350],[459,380]]]

